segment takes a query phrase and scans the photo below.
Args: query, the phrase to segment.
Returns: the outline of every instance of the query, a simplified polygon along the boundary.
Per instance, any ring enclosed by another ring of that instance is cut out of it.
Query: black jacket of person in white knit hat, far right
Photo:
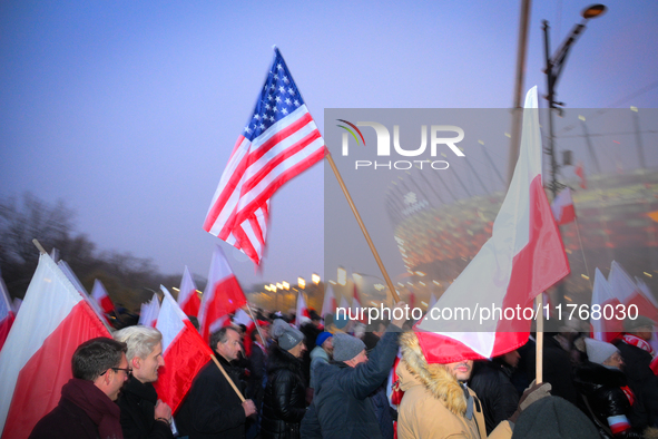
[[[642,437],[628,420],[635,396],[622,371],[588,361],[576,369],[576,386],[583,398],[583,411],[592,418],[601,437]]]

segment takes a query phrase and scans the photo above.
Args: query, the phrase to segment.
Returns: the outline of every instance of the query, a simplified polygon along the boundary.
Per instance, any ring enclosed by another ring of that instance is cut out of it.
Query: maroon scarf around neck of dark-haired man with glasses
[[[101,439],[124,439],[121,410],[94,382],[72,378],[61,388],[61,398],[68,399],[85,410],[98,426]]]

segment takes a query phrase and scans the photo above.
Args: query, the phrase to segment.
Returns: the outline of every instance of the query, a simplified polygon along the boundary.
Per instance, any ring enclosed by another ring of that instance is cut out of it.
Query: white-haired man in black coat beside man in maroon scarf
[[[158,399],[153,383],[158,380],[163,359],[163,334],[155,328],[128,326],[115,332],[115,340],[128,345],[126,357],[132,375],[119,396],[125,439],[173,439],[171,409]]]

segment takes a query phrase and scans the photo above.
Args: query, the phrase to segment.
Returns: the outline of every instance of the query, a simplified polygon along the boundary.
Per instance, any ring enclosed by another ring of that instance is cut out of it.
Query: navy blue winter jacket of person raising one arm
[[[303,438],[382,438],[370,397],[391,372],[400,331],[389,325],[369,361],[355,368],[343,362],[318,364],[313,403],[302,421]]]

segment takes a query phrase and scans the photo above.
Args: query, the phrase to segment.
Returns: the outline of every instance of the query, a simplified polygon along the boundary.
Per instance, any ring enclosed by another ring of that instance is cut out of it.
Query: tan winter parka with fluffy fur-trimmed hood
[[[487,438],[482,404],[475,393],[444,369],[442,364],[428,364],[413,332],[401,340],[402,360],[395,370],[404,397],[397,410],[397,438]],[[472,414],[467,412],[472,400]],[[511,426],[501,422],[490,438],[510,438]]]

